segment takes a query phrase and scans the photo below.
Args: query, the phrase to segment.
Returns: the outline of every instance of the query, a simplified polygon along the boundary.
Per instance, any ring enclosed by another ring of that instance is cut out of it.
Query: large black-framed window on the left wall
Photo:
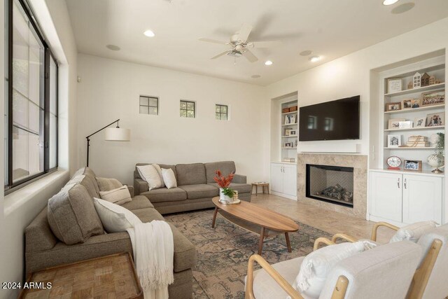
[[[57,167],[57,62],[22,1],[8,1],[5,190]]]

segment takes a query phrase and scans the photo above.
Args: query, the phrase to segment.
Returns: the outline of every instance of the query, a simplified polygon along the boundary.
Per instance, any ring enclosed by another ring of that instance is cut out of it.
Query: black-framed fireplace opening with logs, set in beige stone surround
[[[307,164],[307,197],[353,208],[353,167]]]

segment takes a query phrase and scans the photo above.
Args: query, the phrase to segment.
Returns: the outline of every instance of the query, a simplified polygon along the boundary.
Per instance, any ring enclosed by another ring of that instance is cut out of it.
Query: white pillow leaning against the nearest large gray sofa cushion
[[[125,232],[127,228],[133,228],[137,223],[141,223],[139,217],[135,216],[132,211],[118,204],[99,198],[93,200],[106,232]]]

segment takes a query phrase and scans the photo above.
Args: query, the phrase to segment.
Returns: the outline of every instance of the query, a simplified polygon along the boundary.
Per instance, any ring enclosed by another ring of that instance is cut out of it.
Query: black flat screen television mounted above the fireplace
[[[360,96],[299,109],[299,141],[359,139]]]

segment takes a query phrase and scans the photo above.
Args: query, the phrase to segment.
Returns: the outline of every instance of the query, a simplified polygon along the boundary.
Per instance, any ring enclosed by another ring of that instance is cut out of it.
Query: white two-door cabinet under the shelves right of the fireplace
[[[370,172],[370,219],[410,224],[442,223],[442,176]]]

